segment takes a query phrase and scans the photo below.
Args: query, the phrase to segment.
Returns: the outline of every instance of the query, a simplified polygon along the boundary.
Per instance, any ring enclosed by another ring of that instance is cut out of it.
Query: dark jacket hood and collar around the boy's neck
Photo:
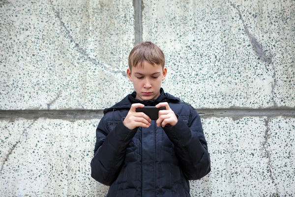
[[[160,96],[157,99],[140,100],[135,98],[136,98],[136,92],[133,92],[127,95],[124,99],[122,99],[118,103],[116,103],[114,106],[104,109],[103,113],[106,114],[107,112],[113,111],[115,109],[123,109],[123,108],[130,109],[133,103],[142,103],[145,106],[155,106],[156,104],[160,102],[179,102],[180,101],[179,98],[174,97],[168,93],[165,93],[163,88],[160,89]]]

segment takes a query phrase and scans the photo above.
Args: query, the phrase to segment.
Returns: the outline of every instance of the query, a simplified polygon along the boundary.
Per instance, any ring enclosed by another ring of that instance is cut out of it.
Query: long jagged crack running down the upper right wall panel
[[[275,101],[275,94],[274,94],[274,89],[277,85],[277,79],[276,79],[276,74],[275,74],[275,68],[273,65],[273,61],[272,61],[272,56],[267,57],[265,51],[262,48],[262,45],[258,43],[257,39],[249,32],[248,27],[244,21],[244,19],[242,18],[242,14],[241,11],[236,7],[236,5],[234,3],[231,3],[231,6],[233,6],[239,15],[239,19],[242,21],[242,24],[244,26],[244,30],[245,33],[247,35],[247,37],[249,38],[249,40],[251,41],[251,44],[253,46],[253,49],[256,53],[256,55],[260,58],[260,60],[262,60],[263,62],[267,62],[268,64],[270,64],[272,66],[273,69],[273,74],[272,74],[272,78],[273,78],[273,82],[271,82],[271,95],[272,95],[272,103],[274,106],[277,106],[277,103]],[[268,68],[266,67],[266,70],[268,71]]]

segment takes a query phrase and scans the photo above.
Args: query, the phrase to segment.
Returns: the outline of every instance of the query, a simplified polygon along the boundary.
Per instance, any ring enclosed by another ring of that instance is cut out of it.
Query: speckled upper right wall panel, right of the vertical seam
[[[198,108],[295,107],[294,1],[145,1],[143,12],[170,92]]]

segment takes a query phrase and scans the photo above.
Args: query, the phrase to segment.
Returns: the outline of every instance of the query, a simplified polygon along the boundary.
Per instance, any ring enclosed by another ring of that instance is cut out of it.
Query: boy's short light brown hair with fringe
[[[129,69],[132,67],[142,66],[146,61],[149,64],[165,66],[165,56],[163,51],[152,42],[142,42],[137,44],[130,52],[128,58]]]

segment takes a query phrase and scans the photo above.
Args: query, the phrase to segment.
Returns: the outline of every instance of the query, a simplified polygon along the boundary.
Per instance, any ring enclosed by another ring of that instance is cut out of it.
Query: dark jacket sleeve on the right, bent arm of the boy
[[[188,125],[178,117],[175,126],[163,129],[175,145],[184,176],[188,180],[196,180],[210,172],[210,156],[200,116],[193,108],[190,114]]]

